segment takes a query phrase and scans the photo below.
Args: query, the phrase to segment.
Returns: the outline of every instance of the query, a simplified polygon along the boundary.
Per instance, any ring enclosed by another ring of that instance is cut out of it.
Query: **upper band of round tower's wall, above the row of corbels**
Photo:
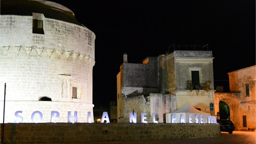
[[[95,35],[84,26],[45,17],[42,35],[32,33],[32,16],[1,15],[0,19],[1,47],[37,45],[48,49],[65,48],[67,51],[90,55],[94,59]]]

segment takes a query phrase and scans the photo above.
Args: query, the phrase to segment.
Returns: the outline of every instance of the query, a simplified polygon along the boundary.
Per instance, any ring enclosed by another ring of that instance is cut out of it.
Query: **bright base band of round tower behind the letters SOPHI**
[[[3,104],[3,101],[0,101]],[[15,107],[14,107],[15,106]],[[77,102],[60,102],[60,101],[6,101],[5,105],[5,123],[15,123],[18,118],[15,112],[22,111],[18,115],[23,117],[22,123],[33,123],[31,115],[35,111],[40,111],[43,114],[41,123],[51,122],[51,112],[59,112],[59,117],[54,119],[54,122],[68,122],[68,111],[71,116],[77,112],[77,121],[80,123],[87,122],[87,112],[91,112],[91,122],[93,122],[93,104],[77,103]],[[3,109],[0,111],[3,115]],[[39,120],[39,114],[35,114],[35,121]],[[3,123],[3,117],[0,119]],[[74,122],[74,119],[71,119]]]

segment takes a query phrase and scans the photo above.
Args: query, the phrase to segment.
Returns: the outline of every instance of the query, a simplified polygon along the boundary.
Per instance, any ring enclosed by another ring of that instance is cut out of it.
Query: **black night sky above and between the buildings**
[[[128,63],[165,54],[172,44],[206,45],[214,85],[229,91],[227,72],[255,65],[255,0],[50,0],[66,6],[96,35],[93,104],[116,101],[116,75]],[[172,52],[173,49],[170,49]]]

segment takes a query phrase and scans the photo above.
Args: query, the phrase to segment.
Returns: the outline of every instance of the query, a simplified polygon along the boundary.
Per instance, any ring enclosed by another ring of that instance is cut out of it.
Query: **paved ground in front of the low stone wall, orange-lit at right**
[[[115,141],[90,142],[85,144],[256,144],[255,132],[233,131],[233,134],[221,132],[216,138],[178,139],[163,141]]]

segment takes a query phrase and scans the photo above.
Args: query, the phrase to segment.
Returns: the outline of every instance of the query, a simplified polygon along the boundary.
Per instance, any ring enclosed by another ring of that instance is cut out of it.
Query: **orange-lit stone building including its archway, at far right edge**
[[[230,120],[235,124],[236,130],[255,130],[256,66],[227,74],[230,92],[215,92],[216,109],[219,109],[219,102],[224,101],[230,107]]]

